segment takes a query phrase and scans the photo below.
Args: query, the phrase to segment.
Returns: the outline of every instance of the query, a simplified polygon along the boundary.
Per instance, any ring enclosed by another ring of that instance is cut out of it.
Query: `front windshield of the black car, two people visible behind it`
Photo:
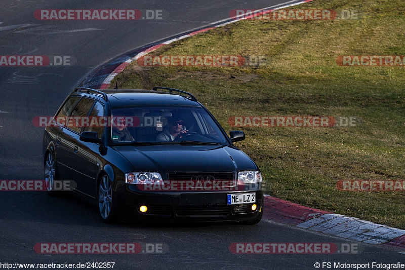
[[[111,111],[113,143],[222,144],[227,140],[200,107],[125,107]]]

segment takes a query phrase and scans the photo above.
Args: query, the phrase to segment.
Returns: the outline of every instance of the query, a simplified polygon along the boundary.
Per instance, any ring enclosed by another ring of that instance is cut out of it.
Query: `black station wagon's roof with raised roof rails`
[[[161,88],[170,89],[170,88]],[[99,98],[108,101],[112,107],[121,107],[128,105],[183,105],[183,106],[198,106],[196,98],[187,92],[177,89],[179,93],[162,92],[157,90],[143,89],[90,89],[76,88],[73,92],[80,93],[84,96]],[[185,93],[185,95],[182,95]],[[189,95],[189,96],[188,96]]]

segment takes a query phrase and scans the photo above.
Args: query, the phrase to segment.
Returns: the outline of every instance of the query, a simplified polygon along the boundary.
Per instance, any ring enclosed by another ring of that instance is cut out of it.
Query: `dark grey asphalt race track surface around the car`
[[[87,75],[128,51],[229,18],[232,9],[260,9],[272,1],[18,1],[0,6],[0,55],[69,56],[71,66],[0,67],[0,179],[43,179],[44,128],[32,119],[53,115]],[[38,9],[163,10],[164,20],[37,20]],[[254,41],[252,41],[254,42]],[[262,220],[234,224],[104,224],[98,209],[76,198],[46,192],[0,192],[1,263],[115,262],[114,269],[314,269],[316,262],[397,263],[398,250],[357,244],[334,254],[233,254],[232,243],[350,243]],[[162,253],[38,254],[36,243],[163,244]],[[327,268],[327,264],[323,266]]]

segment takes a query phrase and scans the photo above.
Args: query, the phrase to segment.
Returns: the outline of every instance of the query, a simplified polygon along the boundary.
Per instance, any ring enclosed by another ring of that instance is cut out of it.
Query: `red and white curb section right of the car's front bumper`
[[[367,244],[405,248],[405,230],[264,196],[263,218]]]

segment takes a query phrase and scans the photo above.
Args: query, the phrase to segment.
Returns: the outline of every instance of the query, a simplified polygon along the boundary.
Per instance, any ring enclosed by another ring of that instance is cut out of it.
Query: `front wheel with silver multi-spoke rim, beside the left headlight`
[[[108,175],[103,175],[98,186],[98,205],[101,218],[105,223],[115,223],[117,221],[113,199],[114,196],[110,178]]]

